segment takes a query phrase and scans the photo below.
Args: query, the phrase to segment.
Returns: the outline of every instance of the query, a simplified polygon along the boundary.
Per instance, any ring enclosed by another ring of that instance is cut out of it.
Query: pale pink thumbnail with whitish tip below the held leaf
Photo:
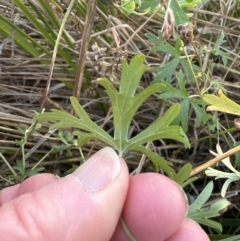
[[[120,170],[121,165],[117,153],[112,148],[105,147],[71,175],[76,177],[86,190],[96,192],[111,183]]]

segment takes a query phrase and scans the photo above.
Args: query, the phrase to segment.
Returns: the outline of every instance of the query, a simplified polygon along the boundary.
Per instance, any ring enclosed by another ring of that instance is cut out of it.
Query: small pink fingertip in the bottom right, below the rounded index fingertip
[[[178,230],[166,241],[210,241],[207,234],[199,226],[198,223],[191,219],[186,219],[182,222]]]

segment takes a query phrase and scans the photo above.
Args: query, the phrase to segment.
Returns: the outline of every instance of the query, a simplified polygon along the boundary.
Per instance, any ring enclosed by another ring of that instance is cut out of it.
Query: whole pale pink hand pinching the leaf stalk
[[[125,161],[104,148],[64,178],[39,174],[3,189],[1,240],[128,241],[122,217],[137,241],[209,241],[186,219],[186,205],[172,180],[129,177]]]

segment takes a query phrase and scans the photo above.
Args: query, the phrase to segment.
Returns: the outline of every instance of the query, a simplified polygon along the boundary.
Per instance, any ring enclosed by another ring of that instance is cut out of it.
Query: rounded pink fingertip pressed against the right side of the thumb
[[[130,178],[122,217],[136,240],[165,240],[177,230],[186,211],[183,191],[169,178],[156,173]],[[118,224],[111,240],[129,240],[122,224]]]

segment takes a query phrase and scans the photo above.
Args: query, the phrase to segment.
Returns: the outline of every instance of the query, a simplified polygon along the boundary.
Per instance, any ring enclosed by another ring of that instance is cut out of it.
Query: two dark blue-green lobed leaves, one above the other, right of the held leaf
[[[188,130],[188,112],[190,107],[193,108],[197,116],[197,125],[206,124],[209,120],[210,115],[206,114],[205,109],[203,108],[206,103],[199,98],[199,95],[191,95],[189,91],[186,90],[186,84],[188,82],[193,82],[196,80],[194,74],[194,66],[191,62],[188,61],[188,58],[182,58],[180,54],[180,46],[176,45],[174,48],[169,43],[165,42],[161,38],[161,33],[159,32],[159,37],[154,36],[153,34],[147,34],[148,39],[153,42],[156,46],[152,48],[152,51],[161,51],[167,54],[171,54],[172,59],[161,67],[153,68],[153,70],[158,72],[158,75],[154,79],[153,83],[162,83],[164,87],[162,89],[162,94],[160,94],[160,99],[179,99],[181,105],[181,111],[175,119],[176,124],[181,124],[183,130],[186,132]],[[181,65],[183,71],[180,71],[177,74],[177,87],[171,85],[173,73],[176,71],[176,68]],[[186,77],[188,81],[186,81]]]

